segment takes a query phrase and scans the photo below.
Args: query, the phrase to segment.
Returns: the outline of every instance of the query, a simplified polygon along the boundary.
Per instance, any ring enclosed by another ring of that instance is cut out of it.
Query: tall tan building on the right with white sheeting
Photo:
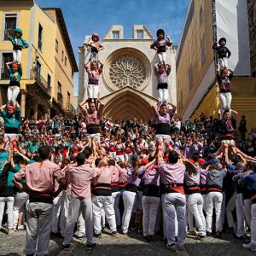
[[[247,3],[241,1],[240,9],[236,9],[234,1],[190,2],[176,62],[177,114],[183,119],[195,119],[201,113],[218,117],[217,59],[212,44],[225,37],[232,52],[229,67],[235,70],[231,80],[231,108],[239,113],[238,121],[242,114],[246,115],[247,128],[256,127],[256,79],[251,77],[249,65],[248,25],[246,18],[237,19],[241,13],[241,17],[247,16]],[[225,9],[225,4],[230,4],[230,12]],[[241,21],[242,24],[239,23]]]

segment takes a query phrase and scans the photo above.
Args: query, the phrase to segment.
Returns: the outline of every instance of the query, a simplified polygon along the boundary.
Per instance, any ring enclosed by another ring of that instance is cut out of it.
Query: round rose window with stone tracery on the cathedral
[[[143,61],[133,55],[119,55],[110,64],[109,78],[118,87],[140,87],[147,77]]]

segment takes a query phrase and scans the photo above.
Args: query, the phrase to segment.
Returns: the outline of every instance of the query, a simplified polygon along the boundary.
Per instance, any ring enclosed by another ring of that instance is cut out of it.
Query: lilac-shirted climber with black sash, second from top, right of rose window
[[[166,103],[168,100],[168,76],[171,72],[171,66],[169,64],[155,64],[154,73],[157,79],[157,92],[158,101],[160,105]]]

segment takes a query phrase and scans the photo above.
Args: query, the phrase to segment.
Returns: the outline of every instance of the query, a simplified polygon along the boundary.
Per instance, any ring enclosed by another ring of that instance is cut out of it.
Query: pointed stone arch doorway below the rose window
[[[106,104],[103,116],[115,119],[128,117],[148,121],[153,114],[149,102],[132,90],[123,90]]]

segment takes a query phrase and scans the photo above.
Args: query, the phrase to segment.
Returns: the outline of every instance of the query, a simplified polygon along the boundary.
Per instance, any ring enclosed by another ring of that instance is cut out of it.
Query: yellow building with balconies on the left
[[[22,50],[23,75],[20,102],[23,116],[36,118],[72,113],[73,73],[78,72],[61,9],[41,9],[33,0],[0,1],[0,104],[6,103],[9,74],[5,63],[12,61],[12,44],[7,29],[20,27],[29,44]]]

